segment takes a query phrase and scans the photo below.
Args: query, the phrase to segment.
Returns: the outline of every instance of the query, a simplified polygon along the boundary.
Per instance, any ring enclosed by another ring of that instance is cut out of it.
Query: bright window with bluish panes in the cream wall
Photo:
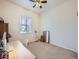
[[[20,20],[20,33],[32,32],[32,18],[28,16],[21,16]]]

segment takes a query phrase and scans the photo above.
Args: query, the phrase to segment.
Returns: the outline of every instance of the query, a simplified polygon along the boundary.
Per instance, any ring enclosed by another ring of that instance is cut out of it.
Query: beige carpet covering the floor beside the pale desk
[[[36,59],[77,59],[75,52],[43,42],[30,43],[27,48]]]

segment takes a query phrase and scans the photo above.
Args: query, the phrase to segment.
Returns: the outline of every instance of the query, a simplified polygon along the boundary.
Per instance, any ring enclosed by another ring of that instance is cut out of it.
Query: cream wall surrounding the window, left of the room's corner
[[[0,0],[0,16],[4,18],[6,23],[9,23],[9,33],[12,36],[10,40],[18,39],[25,42],[28,39],[29,41],[34,41],[34,30],[40,31],[40,21],[37,13],[24,9],[6,0]],[[20,16],[32,17],[32,33],[20,33]]]

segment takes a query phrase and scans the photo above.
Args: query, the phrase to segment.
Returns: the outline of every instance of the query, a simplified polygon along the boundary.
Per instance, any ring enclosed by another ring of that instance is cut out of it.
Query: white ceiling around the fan
[[[26,9],[29,9],[31,11],[37,12],[37,13],[43,13],[47,10],[50,10],[51,8],[55,8],[67,0],[47,0],[46,4],[43,4],[43,8],[40,9],[39,7],[33,8],[32,6],[34,5],[33,2],[30,2],[29,0],[9,0],[10,2],[14,2],[17,5],[20,5],[21,7],[24,7]]]

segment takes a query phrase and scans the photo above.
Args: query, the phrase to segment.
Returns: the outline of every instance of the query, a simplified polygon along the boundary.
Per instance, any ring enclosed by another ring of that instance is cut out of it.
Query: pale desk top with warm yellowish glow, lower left
[[[9,52],[9,59],[35,59],[35,56],[20,41],[12,42],[14,50]]]

